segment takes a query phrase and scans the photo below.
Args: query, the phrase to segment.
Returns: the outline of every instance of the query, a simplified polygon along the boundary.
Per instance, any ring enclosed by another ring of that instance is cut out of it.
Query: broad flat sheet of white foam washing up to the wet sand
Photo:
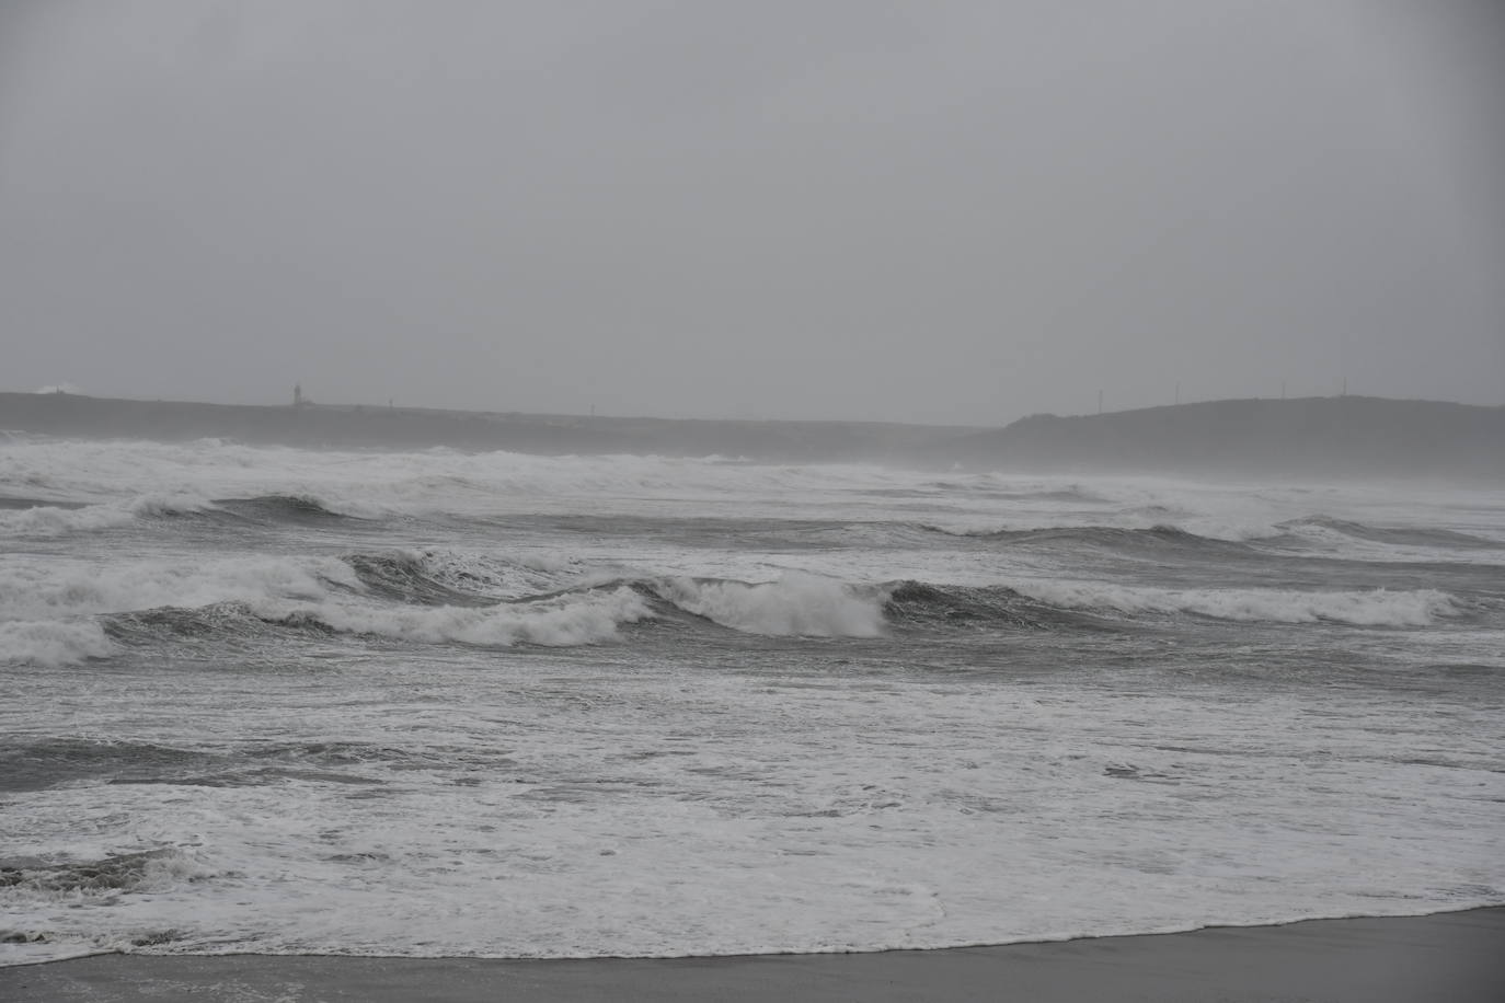
[[[411,656],[373,656],[355,699],[296,714],[301,678],[260,680],[274,699],[257,701],[232,699],[232,674],[122,678],[122,695],[147,687],[128,710],[158,743],[318,762],[339,735],[352,755],[250,786],[11,797],[0,860],[161,853],[163,869],[108,905],[47,875],[0,886],[0,929],[45,937],[0,944],[0,962],[932,947],[1415,913],[1505,889],[1487,710],[1442,719],[1344,690],[1327,699],[1345,713],[1314,728],[1306,695],[507,668],[433,662],[415,680]],[[120,720],[110,702],[32,713],[83,734]]]

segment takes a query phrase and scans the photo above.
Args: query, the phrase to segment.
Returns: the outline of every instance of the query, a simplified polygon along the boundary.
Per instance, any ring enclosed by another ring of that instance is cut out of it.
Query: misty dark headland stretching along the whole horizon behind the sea
[[[299,395],[301,397],[301,395]],[[637,453],[1050,474],[1505,480],[1505,408],[1380,397],[1216,400],[1001,429],[257,406],[0,392],[0,433],[309,448]]]

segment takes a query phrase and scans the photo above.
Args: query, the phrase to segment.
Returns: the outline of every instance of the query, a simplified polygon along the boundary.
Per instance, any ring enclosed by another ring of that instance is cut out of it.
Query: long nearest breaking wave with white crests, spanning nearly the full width
[[[420,589],[426,592],[426,586]],[[905,580],[853,585],[811,574],[774,582],[661,577],[619,580],[519,600],[391,601],[331,592],[316,601],[262,597],[194,609],[161,608],[72,621],[0,623],[0,662],[60,666],[108,657],[117,645],[254,644],[284,632],[415,644],[573,647],[622,639],[650,621],[713,624],[783,638],[880,638],[892,630],[1103,630],[1123,617],[1204,617],[1237,623],[1425,627],[1460,617],[1439,589],[1160,589],[1029,580],[956,586]]]

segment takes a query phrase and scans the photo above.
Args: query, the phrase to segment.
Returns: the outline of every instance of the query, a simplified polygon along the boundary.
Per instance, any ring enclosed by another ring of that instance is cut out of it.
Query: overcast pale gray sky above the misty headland
[[[0,6],[0,389],[1505,403],[1505,5]]]

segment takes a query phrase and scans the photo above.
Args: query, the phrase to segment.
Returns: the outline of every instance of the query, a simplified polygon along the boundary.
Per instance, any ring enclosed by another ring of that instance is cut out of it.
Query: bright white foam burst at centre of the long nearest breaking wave
[[[814,638],[876,638],[883,609],[876,597],[814,574],[789,571],[777,582],[703,582],[671,577],[658,592],[680,609],[748,633]]]

